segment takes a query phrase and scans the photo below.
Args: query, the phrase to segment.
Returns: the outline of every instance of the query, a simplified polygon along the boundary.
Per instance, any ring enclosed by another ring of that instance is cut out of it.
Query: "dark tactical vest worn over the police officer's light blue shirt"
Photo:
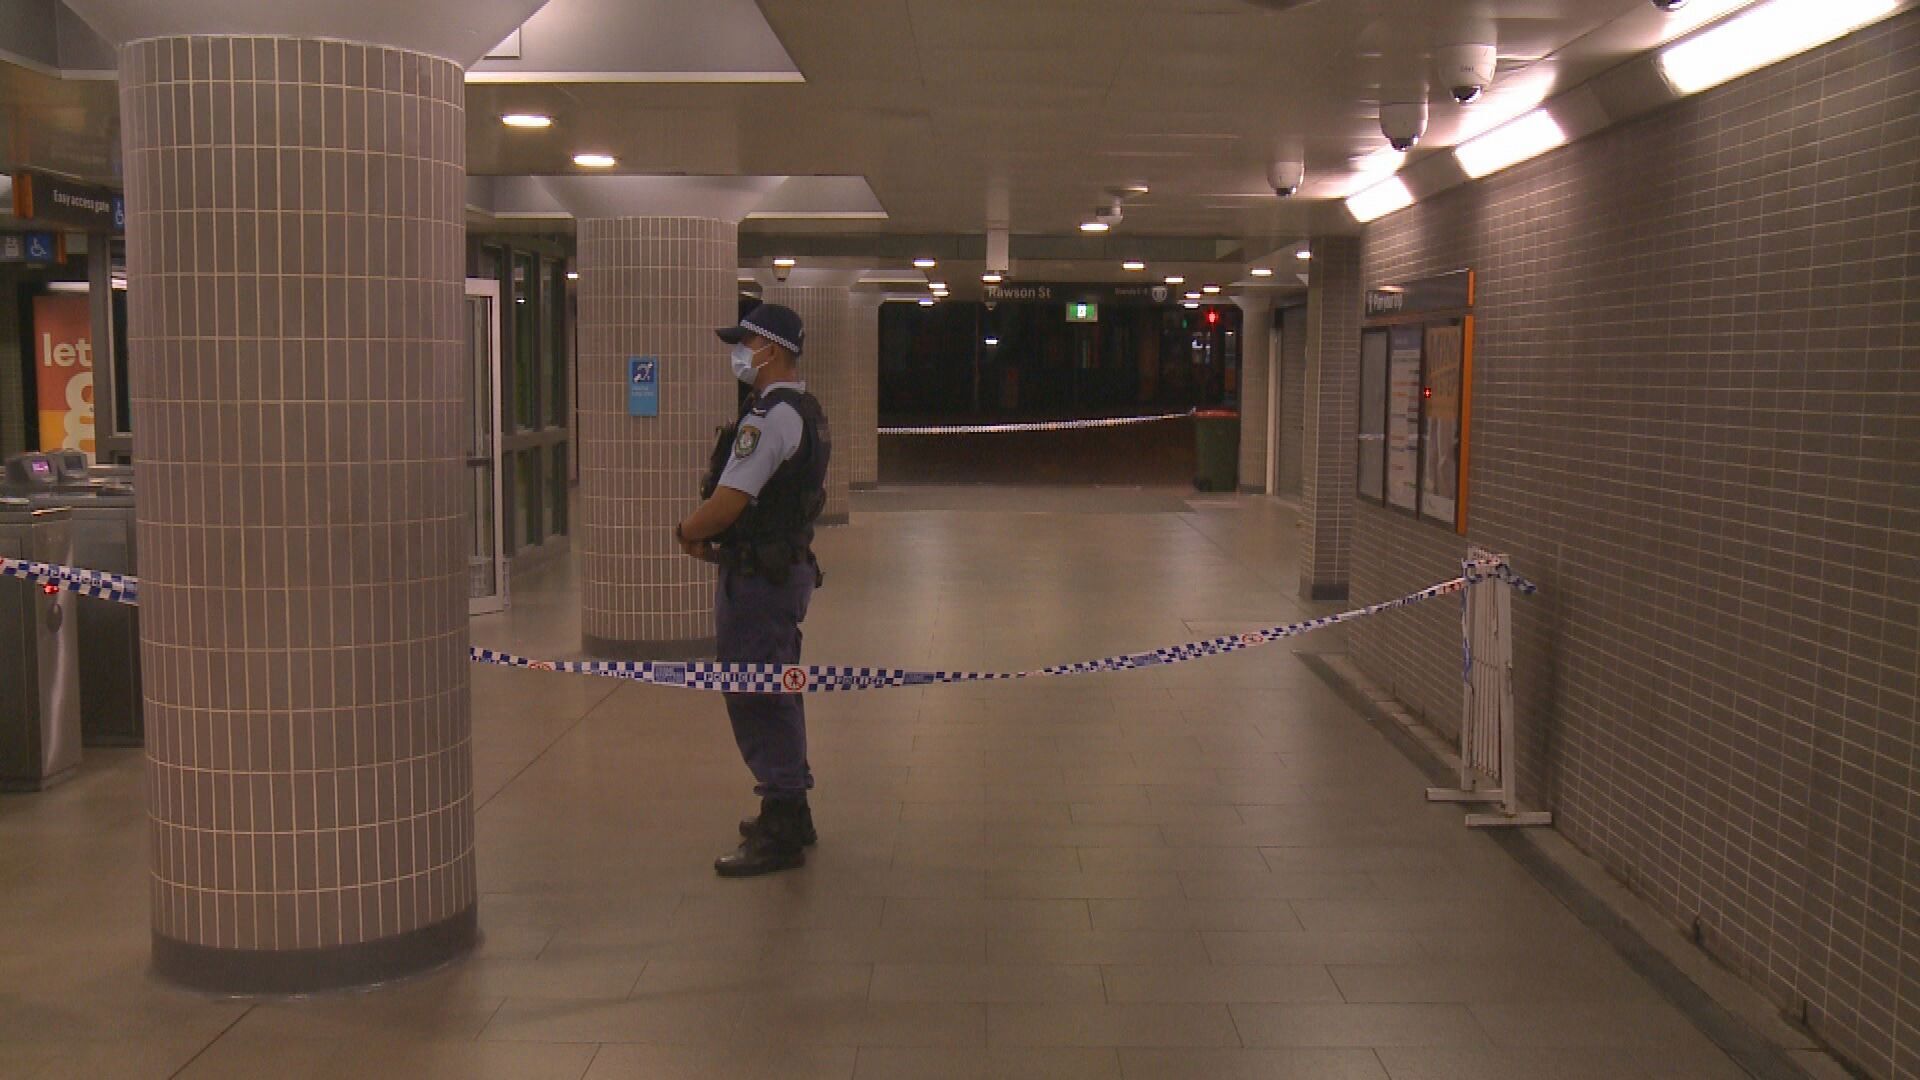
[[[833,455],[828,415],[820,409],[820,400],[804,390],[778,386],[749,398],[739,421],[747,419],[749,413],[764,417],[781,404],[793,405],[801,413],[801,448],[774,469],[766,486],[760,488],[760,496],[747,503],[733,525],[714,536],[722,565],[764,577],[776,584],[785,582],[795,565],[812,561],[814,521],[828,505],[828,459]],[[733,457],[739,421],[720,429],[712,455],[707,459],[701,498],[712,498],[720,486],[720,475],[726,473],[726,465]]]

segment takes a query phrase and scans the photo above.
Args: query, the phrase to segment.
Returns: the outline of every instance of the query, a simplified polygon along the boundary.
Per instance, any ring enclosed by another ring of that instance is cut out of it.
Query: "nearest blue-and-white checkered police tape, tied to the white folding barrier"
[[[1503,567],[1503,563],[1482,565],[1475,571],[1478,575],[1475,578],[1457,577],[1398,600],[1369,603],[1367,607],[1356,607],[1354,611],[1342,611],[1338,615],[1323,615],[1319,619],[1286,623],[1242,634],[1225,634],[1204,642],[1185,642],[1144,653],[1121,653],[1100,659],[1056,663],[1029,671],[914,671],[904,667],[780,665],[739,661],[574,661],[534,659],[482,648],[470,650],[468,655],[474,663],[499,667],[524,667],[528,671],[555,671],[564,675],[595,675],[603,678],[651,682],[655,686],[678,686],[684,690],[718,690],[724,694],[835,694],[849,690],[883,690],[893,686],[933,686],[941,682],[1056,678],[1069,675],[1094,675],[1102,671],[1165,667],[1252,650],[1283,638],[1294,638],[1313,630],[1325,630],[1327,626],[1336,626],[1340,623],[1352,623],[1356,619],[1392,611],[1396,607],[1421,603],[1423,600],[1432,600],[1436,596],[1465,592],[1473,580],[1505,577],[1507,580],[1524,582],[1524,578],[1519,578],[1519,575],[1513,575]],[[40,584],[65,588],[81,596],[96,596],[100,600],[115,600],[119,603],[138,603],[140,582],[138,578],[125,575],[0,557],[0,577],[36,580]],[[1532,590],[1530,584],[1524,588]]]

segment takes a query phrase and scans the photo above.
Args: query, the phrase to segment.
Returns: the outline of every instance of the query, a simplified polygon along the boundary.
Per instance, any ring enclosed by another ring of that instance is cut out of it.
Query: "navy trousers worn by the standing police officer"
[[[814,596],[814,571],[801,563],[783,584],[720,571],[714,630],[722,661],[799,663],[801,621]],[[801,799],[814,786],[806,765],[806,705],[801,694],[728,694],[733,742],[760,798]]]

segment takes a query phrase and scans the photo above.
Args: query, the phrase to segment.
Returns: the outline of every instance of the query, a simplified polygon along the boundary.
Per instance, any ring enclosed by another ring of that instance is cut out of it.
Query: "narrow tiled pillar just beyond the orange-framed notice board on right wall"
[[[1321,236],[1311,244],[1308,284],[1308,377],[1300,461],[1306,548],[1300,596],[1346,600],[1354,552],[1354,438],[1359,394],[1359,238]]]

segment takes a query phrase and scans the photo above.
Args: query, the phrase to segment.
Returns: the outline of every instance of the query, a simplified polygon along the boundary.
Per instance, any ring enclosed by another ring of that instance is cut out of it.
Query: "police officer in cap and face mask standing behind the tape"
[[[801,659],[806,603],[824,580],[812,540],[828,502],[833,440],[820,400],[799,380],[806,346],[799,313],[762,304],[716,332],[733,346],[733,375],[753,396],[733,427],[720,430],[701,484],[705,502],[674,527],[674,538],[687,555],[720,565],[720,659],[791,665]],[[804,703],[799,694],[728,694],[726,711],[760,815],[739,822],[739,849],[714,861],[714,871],[745,878],[801,867],[814,844]]]

